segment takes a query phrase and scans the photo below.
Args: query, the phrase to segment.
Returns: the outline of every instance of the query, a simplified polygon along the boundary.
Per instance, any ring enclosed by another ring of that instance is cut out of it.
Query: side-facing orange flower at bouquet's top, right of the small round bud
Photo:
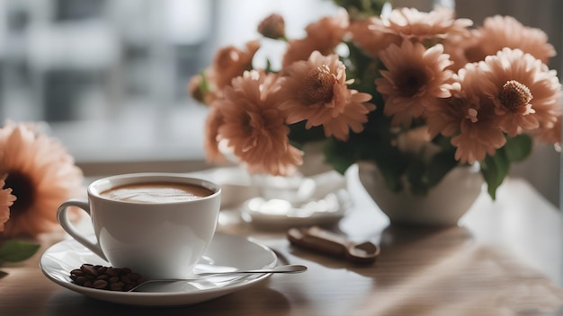
[[[307,60],[315,50],[323,55],[334,53],[336,46],[342,42],[348,25],[348,13],[344,10],[340,10],[334,17],[310,23],[305,29],[306,38],[289,41],[281,66],[285,68],[296,61]]]

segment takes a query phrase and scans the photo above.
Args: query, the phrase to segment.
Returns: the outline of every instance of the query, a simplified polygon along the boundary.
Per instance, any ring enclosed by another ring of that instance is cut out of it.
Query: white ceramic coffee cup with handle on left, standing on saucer
[[[139,203],[104,197],[102,193],[124,185],[174,183],[196,185],[210,195],[181,201]],[[150,278],[185,277],[192,273],[215,233],[221,189],[208,180],[176,173],[133,173],[95,180],[88,186],[88,201],[70,199],[58,207],[58,223],[76,241],[112,267],[131,268]],[[94,236],[76,229],[67,216],[69,206],[85,210]]]

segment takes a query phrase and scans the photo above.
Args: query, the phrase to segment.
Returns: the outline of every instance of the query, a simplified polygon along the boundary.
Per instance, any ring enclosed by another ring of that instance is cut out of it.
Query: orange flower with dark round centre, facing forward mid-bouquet
[[[385,98],[384,113],[393,116],[395,126],[410,127],[413,118],[437,99],[451,96],[451,65],[443,47],[424,48],[421,43],[403,40],[400,47],[391,45],[380,58],[388,70],[375,80],[377,91]]]

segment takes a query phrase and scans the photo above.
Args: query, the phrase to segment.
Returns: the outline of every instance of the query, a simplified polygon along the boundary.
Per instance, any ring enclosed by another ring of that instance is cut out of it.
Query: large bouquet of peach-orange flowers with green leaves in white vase
[[[510,16],[473,28],[449,8],[335,3],[341,11],[304,38],[288,39],[281,15],[266,17],[262,39],[220,48],[192,78],[192,97],[210,108],[211,162],[227,151],[250,172],[285,175],[305,143],[322,141],[336,171],[371,161],[390,189],[415,194],[478,163],[495,198],[534,139],[560,145],[561,85],[543,31]],[[286,45],[281,66],[255,66],[272,40]]]

